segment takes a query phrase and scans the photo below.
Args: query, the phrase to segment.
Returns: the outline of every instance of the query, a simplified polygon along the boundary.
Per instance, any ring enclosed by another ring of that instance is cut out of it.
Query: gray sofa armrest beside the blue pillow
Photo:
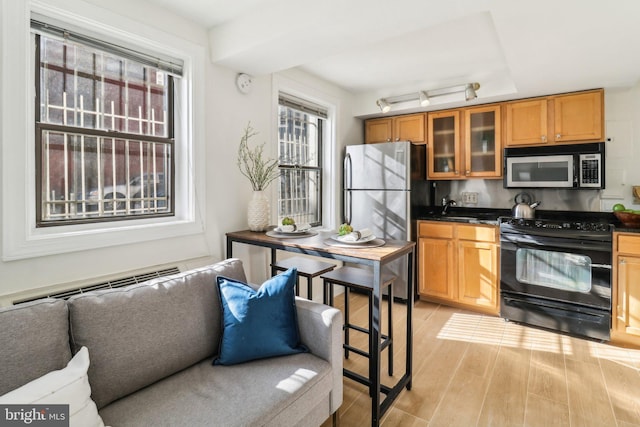
[[[331,364],[331,413],[342,405],[342,312],[337,308],[296,297],[300,338],[312,354]]]

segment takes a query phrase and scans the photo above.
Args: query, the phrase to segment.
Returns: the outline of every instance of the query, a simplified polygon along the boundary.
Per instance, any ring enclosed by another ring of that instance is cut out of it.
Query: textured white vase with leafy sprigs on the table
[[[270,206],[264,190],[280,176],[278,160],[264,156],[265,143],[249,147],[249,139],[257,135],[251,122],[244,129],[244,135],[240,138],[238,147],[238,169],[246,176],[253,187],[253,198],[249,202],[247,221],[251,231],[264,231],[269,225]]]

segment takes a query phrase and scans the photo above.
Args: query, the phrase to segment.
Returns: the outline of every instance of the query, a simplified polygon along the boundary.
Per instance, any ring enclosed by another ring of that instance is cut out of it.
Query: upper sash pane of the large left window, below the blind
[[[168,75],[41,36],[41,121],[168,136]]]

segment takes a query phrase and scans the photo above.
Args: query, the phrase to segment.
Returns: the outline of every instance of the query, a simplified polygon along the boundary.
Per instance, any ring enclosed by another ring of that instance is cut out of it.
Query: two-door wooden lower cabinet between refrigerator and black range
[[[498,227],[418,222],[421,298],[498,313]]]

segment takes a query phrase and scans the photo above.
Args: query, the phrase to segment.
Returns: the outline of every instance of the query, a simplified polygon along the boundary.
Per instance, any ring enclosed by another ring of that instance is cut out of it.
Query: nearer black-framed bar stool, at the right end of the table
[[[373,273],[370,270],[365,270],[362,268],[356,267],[340,267],[328,273],[324,273],[320,276],[323,279],[323,302],[325,304],[333,305],[333,285],[344,286],[344,357],[345,359],[349,358],[349,352],[352,351],[361,356],[366,357],[371,361],[371,353],[372,353],[372,341],[371,341],[371,324],[373,323]],[[392,274],[384,273],[382,274],[382,281],[380,283],[380,291],[386,287],[389,288],[388,292],[388,302],[389,307],[387,310],[387,324],[388,324],[388,333],[387,335],[380,334],[380,338],[382,342],[380,344],[380,350],[384,350],[388,347],[389,349],[389,357],[388,357],[388,371],[389,375],[393,375],[393,282],[395,281],[396,276]],[[363,328],[358,325],[354,325],[349,322],[349,290],[353,288],[359,291],[364,291],[369,298],[369,326],[367,328]],[[349,344],[349,330],[356,330],[359,332],[363,332],[369,335],[369,351],[363,351],[357,347],[353,347]],[[373,355],[374,357],[378,357],[378,355]],[[370,385],[369,381],[363,379],[361,376],[344,369],[345,376],[352,378],[356,381],[359,381],[365,385]]]

